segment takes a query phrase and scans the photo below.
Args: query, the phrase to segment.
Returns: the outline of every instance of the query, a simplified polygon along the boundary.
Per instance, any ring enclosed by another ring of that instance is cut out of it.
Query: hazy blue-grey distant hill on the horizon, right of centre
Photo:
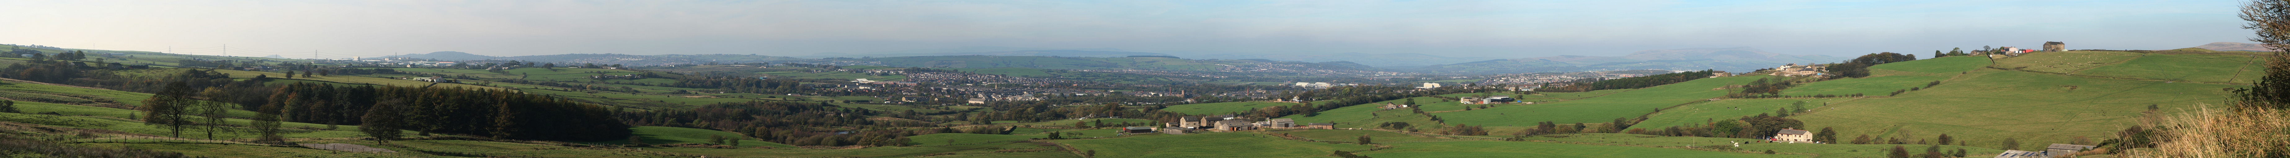
[[[1850,57],[1782,55],[1743,46],[1743,48],[1637,50],[1621,57],[1557,55],[1557,57],[1521,57],[1521,60],[1482,60],[1463,64],[1420,66],[1418,71],[1438,71],[1438,73],[1555,73],[1555,71],[1624,71],[1624,69],[1752,71],[1779,64],[1825,64],[1841,60]]]

